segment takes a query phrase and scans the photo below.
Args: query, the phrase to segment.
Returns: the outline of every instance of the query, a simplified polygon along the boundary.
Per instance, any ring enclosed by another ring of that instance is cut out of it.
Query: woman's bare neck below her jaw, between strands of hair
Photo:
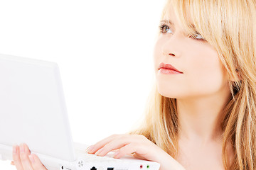
[[[221,137],[220,118],[230,93],[201,98],[177,99],[179,137],[201,144]]]

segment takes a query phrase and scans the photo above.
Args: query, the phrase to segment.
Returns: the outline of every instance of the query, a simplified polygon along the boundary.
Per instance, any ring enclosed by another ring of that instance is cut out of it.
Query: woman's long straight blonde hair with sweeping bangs
[[[223,109],[223,164],[226,170],[256,169],[256,2],[255,0],[167,0],[185,33],[200,33],[218,52],[229,77],[232,97]],[[188,21],[188,12],[195,25]],[[166,19],[166,18],[165,18]],[[167,18],[168,19],[168,18]],[[237,72],[238,71],[238,72]],[[176,98],[166,98],[156,83],[146,104],[145,121],[130,132],[141,134],[172,157],[178,152]],[[230,162],[228,146],[234,152]]]

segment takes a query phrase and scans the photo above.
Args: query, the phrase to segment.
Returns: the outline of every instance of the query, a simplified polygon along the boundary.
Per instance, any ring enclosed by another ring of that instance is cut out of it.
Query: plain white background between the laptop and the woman
[[[0,53],[57,62],[73,140],[93,144],[129,131],[142,116],[163,6],[164,0],[1,0]],[[15,169],[9,163],[0,161],[0,169]]]

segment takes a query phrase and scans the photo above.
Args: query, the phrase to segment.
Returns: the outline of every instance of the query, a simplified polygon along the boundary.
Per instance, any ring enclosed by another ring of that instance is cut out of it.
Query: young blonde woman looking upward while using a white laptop
[[[256,169],[255,16],[255,0],[167,0],[144,123],[87,152],[132,154],[161,170]],[[18,170],[45,169],[26,145],[15,150]]]

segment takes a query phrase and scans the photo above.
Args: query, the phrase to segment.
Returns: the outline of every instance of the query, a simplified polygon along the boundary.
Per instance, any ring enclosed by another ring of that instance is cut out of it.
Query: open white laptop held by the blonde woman
[[[0,54],[0,159],[26,143],[48,170],[158,170],[160,165],[128,155],[87,154],[73,142],[58,64]],[[90,117],[88,113],[87,117]],[[86,134],[86,132],[84,133]]]

